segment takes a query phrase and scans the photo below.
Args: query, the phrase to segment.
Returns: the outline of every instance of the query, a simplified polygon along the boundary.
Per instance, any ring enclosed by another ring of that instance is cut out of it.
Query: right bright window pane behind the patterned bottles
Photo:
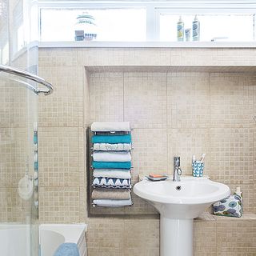
[[[192,22],[195,14],[160,14],[160,41],[177,41],[177,22],[180,16],[184,28],[191,29],[190,41],[192,41]],[[254,41],[254,14],[197,14],[197,16],[200,22],[199,41],[201,42]]]

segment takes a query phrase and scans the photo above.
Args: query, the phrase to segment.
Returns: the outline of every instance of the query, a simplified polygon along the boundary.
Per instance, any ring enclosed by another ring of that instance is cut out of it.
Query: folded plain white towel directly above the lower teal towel
[[[130,162],[130,152],[94,152],[95,162]]]

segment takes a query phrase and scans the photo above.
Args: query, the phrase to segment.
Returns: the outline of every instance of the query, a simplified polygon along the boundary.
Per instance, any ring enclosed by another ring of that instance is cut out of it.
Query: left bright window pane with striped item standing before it
[[[43,42],[146,41],[146,9],[41,9],[40,36]]]

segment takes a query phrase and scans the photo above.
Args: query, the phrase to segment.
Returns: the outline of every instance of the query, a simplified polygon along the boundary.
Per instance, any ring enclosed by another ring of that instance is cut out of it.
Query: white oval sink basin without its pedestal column
[[[166,218],[197,218],[206,206],[230,195],[225,184],[208,178],[171,178],[161,182],[143,179],[134,186],[134,194],[150,202]]]

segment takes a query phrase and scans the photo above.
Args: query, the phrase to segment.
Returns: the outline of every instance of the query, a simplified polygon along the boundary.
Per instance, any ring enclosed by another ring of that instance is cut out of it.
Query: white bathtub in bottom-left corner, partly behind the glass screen
[[[42,224],[39,226],[41,256],[52,256],[63,242],[78,245],[80,256],[86,256],[86,224]],[[0,225],[1,256],[28,256],[30,226],[17,224]],[[37,256],[37,255],[33,255]]]

